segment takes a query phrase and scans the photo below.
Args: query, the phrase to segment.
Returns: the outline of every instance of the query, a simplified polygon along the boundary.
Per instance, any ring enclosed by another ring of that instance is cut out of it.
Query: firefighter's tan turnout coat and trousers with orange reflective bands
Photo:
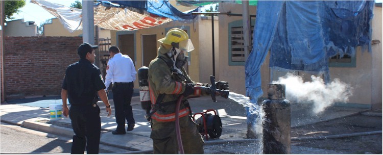
[[[161,103],[174,101],[157,110],[152,116],[152,133],[150,137],[153,139],[154,154],[170,154],[178,153],[178,144],[175,130],[175,110],[176,102],[179,96],[185,90],[186,81],[194,83],[186,74],[182,67],[184,78],[176,73],[172,73],[166,61],[171,59],[165,54],[170,49],[166,49],[163,45],[158,48],[158,57],[150,62],[148,71],[149,91],[152,107],[156,104],[157,97],[165,94]],[[186,81],[184,79],[187,79]],[[189,117],[190,109],[186,97],[183,99],[180,110],[180,130],[182,144],[185,153],[203,154],[203,140],[198,133],[196,124]]]

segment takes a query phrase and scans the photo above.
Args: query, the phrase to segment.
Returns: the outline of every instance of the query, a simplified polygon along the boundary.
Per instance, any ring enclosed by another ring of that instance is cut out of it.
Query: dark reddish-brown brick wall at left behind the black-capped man
[[[5,93],[60,95],[68,65],[77,62],[82,37],[5,37]]]

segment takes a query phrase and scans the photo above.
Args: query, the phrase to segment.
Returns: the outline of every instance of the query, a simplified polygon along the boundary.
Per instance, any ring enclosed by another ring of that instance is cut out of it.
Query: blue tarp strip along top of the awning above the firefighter
[[[169,1],[164,0],[147,0],[147,1],[99,1],[102,2],[102,5],[105,7],[126,7],[126,8],[136,8],[142,12],[145,10],[149,13],[170,18],[173,20],[189,20],[194,19],[197,15],[192,15],[192,12],[197,12],[198,8],[195,10],[183,13],[176,8],[174,8]],[[117,5],[115,5],[117,4]]]

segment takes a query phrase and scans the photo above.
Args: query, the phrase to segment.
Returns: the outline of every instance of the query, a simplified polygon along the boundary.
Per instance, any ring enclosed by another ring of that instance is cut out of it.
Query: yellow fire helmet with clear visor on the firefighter
[[[158,40],[159,42],[167,45],[172,45],[183,51],[192,51],[194,46],[192,40],[189,39],[187,33],[181,29],[170,29],[164,38]]]

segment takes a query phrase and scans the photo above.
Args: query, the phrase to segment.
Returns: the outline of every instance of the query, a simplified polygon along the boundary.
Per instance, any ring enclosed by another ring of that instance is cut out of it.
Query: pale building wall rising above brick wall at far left
[[[4,27],[4,36],[37,36],[37,25],[29,25],[24,19],[7,21],[7,26]]]

